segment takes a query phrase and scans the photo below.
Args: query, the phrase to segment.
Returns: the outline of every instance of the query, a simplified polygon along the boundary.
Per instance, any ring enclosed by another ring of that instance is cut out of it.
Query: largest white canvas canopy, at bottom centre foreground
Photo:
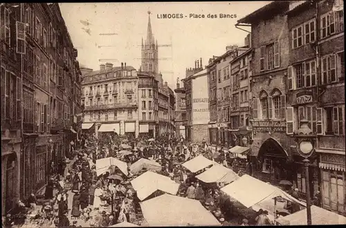
[[[219,226],[219,221],[201,202],[176,195],[160,195],[140,202],[143,217],[150,227]]]

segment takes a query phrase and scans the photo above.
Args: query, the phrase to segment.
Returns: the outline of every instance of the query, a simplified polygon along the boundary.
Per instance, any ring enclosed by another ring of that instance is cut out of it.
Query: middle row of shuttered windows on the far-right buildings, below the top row
[[[332,82],[344,81],[345,78],[345,59],[344,51],[325,55],[321,58],[320,78],[316,76],[316,60],[300,62],[288,67],[288,87],[289,89],[302,89]]]

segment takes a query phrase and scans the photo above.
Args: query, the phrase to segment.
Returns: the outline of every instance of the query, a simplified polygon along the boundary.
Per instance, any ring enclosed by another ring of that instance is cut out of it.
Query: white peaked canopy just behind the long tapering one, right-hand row
[[[205,172],[197,175],[196,178],[205,183],[222,182],[228,184],[230,182],[234,182],[239,178],[239,176],[233,170],[226,168],[225,166],[215,164],[214,166],[208,168],[208,170]]]

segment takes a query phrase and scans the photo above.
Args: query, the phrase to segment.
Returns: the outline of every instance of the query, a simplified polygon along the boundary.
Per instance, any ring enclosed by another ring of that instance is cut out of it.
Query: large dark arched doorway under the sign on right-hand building
[[[259,169],[264,181],[279,184],[281,180],[289,180],[293,183],[291,157],[278,141],[273,138],[266,139],[260,147],[257,159],[260,161]]]

